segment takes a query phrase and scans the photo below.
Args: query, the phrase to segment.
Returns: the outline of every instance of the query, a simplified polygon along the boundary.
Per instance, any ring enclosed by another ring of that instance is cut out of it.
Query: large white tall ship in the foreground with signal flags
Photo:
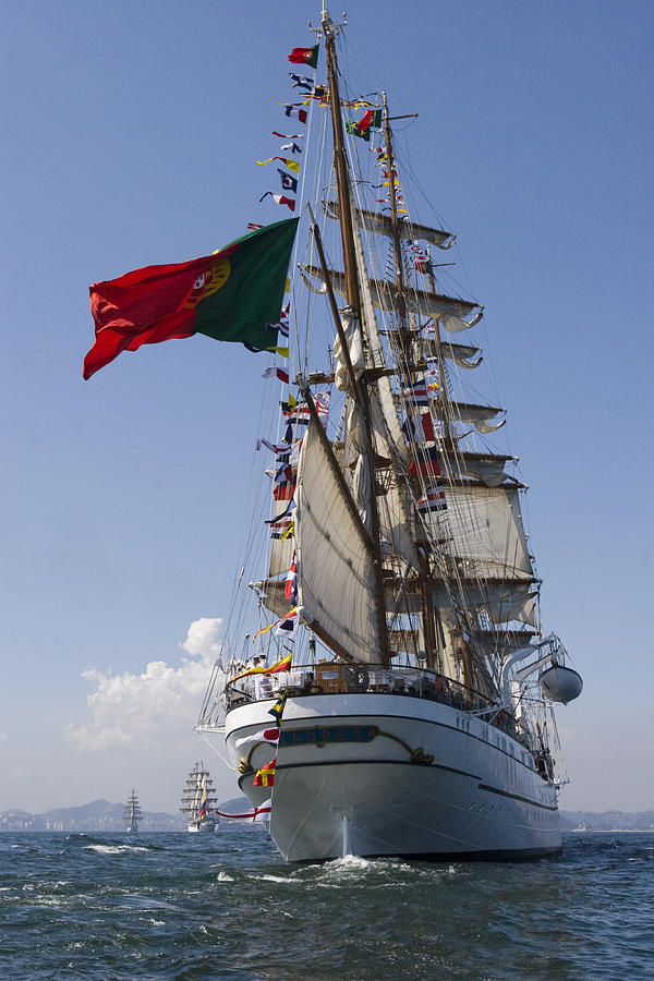
[[[556,853],[554,704],[582,681],[542,626],[505,410],[477,395],[484,308],[457,286],[453,232],[414,215],[413,116],[339,66],[344,27],[324,9],[287,65],[287,190],[264,207],[301,225],[290,350],[264,374],[267,545],[239,557],[251,602],[197,729],[225,739],[289,861]]]

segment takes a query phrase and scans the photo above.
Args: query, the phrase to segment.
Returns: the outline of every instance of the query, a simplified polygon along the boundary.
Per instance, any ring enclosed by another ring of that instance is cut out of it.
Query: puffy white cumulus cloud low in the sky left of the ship
[[[82,677],[93,686],[87,698],[90,720],[65,726],[65,738],[84,750],[140,747],[189,732],[197,718],[211,668],[220,656],[222,620],[202,617],[180,644],[187,656],[169,665],[150,661],[141,674],[90,668]]]

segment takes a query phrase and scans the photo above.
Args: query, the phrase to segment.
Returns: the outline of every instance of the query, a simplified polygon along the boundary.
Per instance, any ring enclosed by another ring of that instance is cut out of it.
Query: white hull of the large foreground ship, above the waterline
[[[252,780],[275,751],[234,742],[269,725],[272,704],[226,719],[232,762],[252,767],[239,785],[253,804],[270,796]],[[289,698],[270,835],[288,861],[520,859],[561,846],[556,787],[520,742],[450,705],[372,693]]]

